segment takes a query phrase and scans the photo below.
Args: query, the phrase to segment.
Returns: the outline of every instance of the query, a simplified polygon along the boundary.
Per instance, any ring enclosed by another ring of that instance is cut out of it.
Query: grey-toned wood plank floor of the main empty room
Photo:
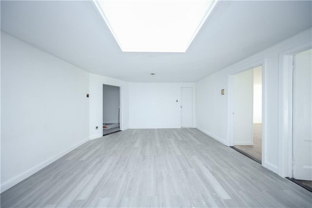
[[[312,193],[194,128],[89,141],[1,194],[1,207],[289,207]]]

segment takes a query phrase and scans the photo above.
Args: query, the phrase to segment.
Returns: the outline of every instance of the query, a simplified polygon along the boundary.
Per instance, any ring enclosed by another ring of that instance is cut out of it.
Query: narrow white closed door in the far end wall
[[[181,87],[181,127],[193,127],[193,87]]]

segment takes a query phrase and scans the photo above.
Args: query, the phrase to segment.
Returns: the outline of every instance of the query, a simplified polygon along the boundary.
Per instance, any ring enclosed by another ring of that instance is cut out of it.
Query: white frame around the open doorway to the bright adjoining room
[[[262,166],[266,166],[265,163],[265,156],[266,156],[266,114],[267,114],[267,107],[266,107],[266,59],[259,60],[256,62],[252,62],[248,65],[245,65],[244,67],[241,67],[240,69],[236,70],[234,73],[228,75],[228,93],[227,93],[227,140],[226,145],[227,146],[234,146],[234,129],[233,129],[233,110],[234,110],[234,76],[240,72],[244,72],[250,69],[253,69],[257,66],[262,66],[262,129],[261,129],[261,142],[262,142],[262,153],[261,153],[261,164]]]

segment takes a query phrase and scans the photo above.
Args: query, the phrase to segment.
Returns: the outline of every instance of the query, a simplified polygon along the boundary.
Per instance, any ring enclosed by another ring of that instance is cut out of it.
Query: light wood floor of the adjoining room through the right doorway
[[[254,145],[235,145],[236,148],[246,152],[262,161],[262,124],[254,124]]]

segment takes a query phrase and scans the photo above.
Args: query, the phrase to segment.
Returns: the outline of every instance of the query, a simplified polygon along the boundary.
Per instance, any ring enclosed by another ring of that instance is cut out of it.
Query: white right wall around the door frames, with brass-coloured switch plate
[[[279,54],[311,42],[312,30],[306,30],[266,50],[263,50],[240,62],[234,63],[196,83],[196,121],[198,129],[210,134],[215,139],[227,144],[227,96],[221,95],[220,90],[227,93],[229,75],[242,69],[254,67],[255,63],[264,61],[262,68],[265,77],[265,161],[262,165],[277,173],[278,171],[278,68]],[[225,57],[226,58],[226,57]],[[262,121],[264,123],[264,121]]]

